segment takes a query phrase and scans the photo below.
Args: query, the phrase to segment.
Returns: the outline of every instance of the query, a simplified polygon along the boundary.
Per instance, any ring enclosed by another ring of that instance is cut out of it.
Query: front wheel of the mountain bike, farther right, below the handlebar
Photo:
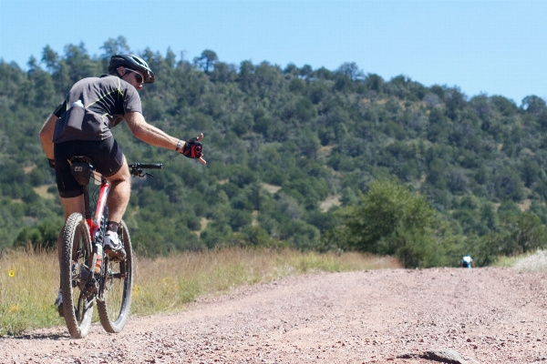
[[[102,299],[97,302],[98,318],[102,327],[108,332],[120,332],[129,319],[131,297],[133,294],[133,251],[131,238],[125,222],[119,224],[119,238],[123,241],[126,258],[115,262],[105,255],[103,262]]]

